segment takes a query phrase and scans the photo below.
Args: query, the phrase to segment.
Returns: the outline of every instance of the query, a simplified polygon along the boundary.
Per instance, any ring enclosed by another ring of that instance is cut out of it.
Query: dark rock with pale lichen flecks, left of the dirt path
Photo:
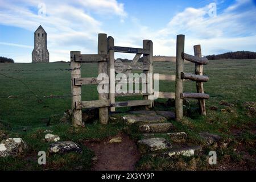
[[[67,141],[67,142],[55,142],[50,145],[49,153],[51,154],[65,154],[68,152],[82,153],[81,148],[78,144]]]

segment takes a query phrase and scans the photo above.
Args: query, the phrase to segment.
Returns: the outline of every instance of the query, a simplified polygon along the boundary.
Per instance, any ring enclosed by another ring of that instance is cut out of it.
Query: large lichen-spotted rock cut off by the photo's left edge
[[[0,157],[18,156],[26,148],[26,143],[21,138],[8,138],[0,143]]]

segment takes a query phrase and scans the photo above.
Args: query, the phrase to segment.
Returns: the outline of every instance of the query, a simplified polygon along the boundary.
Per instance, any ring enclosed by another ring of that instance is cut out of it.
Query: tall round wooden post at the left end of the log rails
[[[184,59],[182,52],[184,52],[185,35],[177,35],[176,43],[176,80],[175,80],[175,113],[176,121],[183,118],[183,80],[181,79],[181,72],[184,70]]]

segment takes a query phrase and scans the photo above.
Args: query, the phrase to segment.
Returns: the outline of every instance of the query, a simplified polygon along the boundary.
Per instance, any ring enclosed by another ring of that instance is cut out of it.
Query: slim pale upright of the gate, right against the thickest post
[[[108,37],[108,47],[114,47],[114,38]],[[115,104],[115,52],[109,50],[109,100],[110,105]],[[114,112],[115,107],[110,107],[110,111]]]

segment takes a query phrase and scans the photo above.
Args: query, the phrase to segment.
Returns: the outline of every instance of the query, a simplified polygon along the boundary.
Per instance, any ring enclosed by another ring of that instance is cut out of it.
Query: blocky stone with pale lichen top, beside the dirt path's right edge
[[[139,151],[142,154],[172,148],[171,143],[164,138],[147,138],[138,141]]]

